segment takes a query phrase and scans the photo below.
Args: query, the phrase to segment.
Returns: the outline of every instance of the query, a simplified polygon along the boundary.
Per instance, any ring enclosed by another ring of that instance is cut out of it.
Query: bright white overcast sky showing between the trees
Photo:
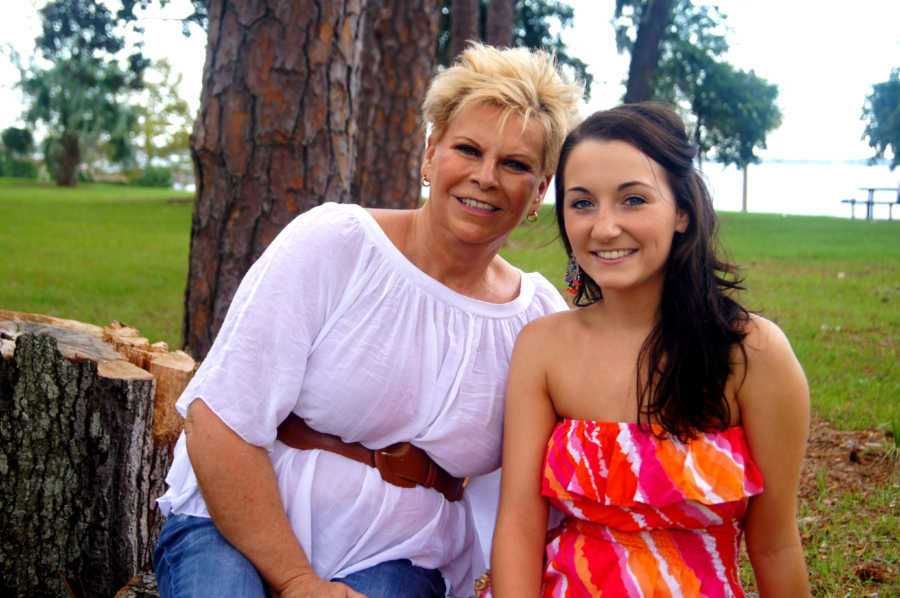
[[[575,24],[564,39],[570,51],[589,64],[593,97],[585,113],[619,101],[628,57],[615,50],[610,23],[614,0],[570,0]],[[4,3],[0,40],[21,54],[33,53],[40,32],[37,7],[43,0]],[[190,10],[188,0],[172,0],[165,15]],[[782,126],[768,137],[768,158],[849,160],[871,155],[861,139],[863,102],[873,83],[887,80],[900,68],[900,1],[898,0],[720,0],[727,16],[731,45],[726,59],[779,88]],[[205,36],[184,39],[172,20],[145,22],[146,54],[167,57],[184,73],[182,95],[199,104]],[[6,55],[0,57],[0,129],[19,124],[21,96],[14,89],[18,73]]]

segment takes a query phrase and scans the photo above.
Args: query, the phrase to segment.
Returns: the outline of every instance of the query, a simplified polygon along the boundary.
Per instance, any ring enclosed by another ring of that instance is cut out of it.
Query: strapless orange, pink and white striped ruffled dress
[[[742,522],[762,489],[740,427],[682,443],[564,419],[544,460],[542,492],[566,517],[549,535],[542,595],[742,597]]]

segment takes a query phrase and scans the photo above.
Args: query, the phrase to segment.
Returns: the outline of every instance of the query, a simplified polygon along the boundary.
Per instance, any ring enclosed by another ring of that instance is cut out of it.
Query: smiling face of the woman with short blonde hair
[[[431,181],[428,209],[462,242],[502,243],[537,210],[552,175],[542,170],[544,132],[531,119],[490,105],[464,109],[440,139],[429,138],[423,174]]]

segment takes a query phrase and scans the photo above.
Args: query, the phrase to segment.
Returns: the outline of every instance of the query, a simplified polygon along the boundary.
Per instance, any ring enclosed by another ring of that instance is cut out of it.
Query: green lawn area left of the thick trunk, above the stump
[[[119,320],[177,347],[192,196],[0,179],[0,308]]]

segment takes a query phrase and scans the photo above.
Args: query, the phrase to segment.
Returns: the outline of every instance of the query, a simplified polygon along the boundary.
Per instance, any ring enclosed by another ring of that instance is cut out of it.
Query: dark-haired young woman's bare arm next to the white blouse
[[[540,362],[540,327],[527,326],[516,340],[503,420],[503,477],[491,552],[495,598],[537,597],[543,578],[547,500],[541,470],[556,413]]]

